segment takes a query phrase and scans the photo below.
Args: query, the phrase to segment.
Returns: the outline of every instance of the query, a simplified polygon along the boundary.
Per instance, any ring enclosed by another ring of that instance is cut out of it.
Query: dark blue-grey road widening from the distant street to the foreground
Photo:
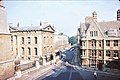
[[[94,71],[83,69],[78,64],[75,55],[76,48],[66,51],[66,60],[59,67],[53,67],[52,70],[46,72],[36,80],[120,80],[116,76],[97,71],[97,79],[94,78]],[[69,56],[68,56],[69,54]],[[71,55],[70,55],[71,54]],[[76,67],[77,66],[77,67]]]

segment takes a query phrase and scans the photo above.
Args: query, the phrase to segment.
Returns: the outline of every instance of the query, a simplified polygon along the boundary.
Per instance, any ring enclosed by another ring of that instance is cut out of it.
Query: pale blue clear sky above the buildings
[[[40,22],[54,25],[56,33],[77,35],[86,16],[97,12],[97,21],[116,20],[118,0],[11,0],[4,1],[8,23],[20,27],[39,26]]]

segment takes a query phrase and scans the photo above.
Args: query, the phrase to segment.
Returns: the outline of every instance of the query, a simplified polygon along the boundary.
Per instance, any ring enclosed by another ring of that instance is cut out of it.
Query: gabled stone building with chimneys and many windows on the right
[[[78,29],[82,65],[97,66],[120,58],[120,10],[116,21],[97,21],[97,13],[85,18]]]

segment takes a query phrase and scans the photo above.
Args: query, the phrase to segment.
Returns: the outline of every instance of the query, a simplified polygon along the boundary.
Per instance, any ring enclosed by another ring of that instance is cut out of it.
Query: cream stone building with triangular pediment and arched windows
[[[49,58],[54,55],[54,27],[50,24],[40,26],[17,27],[10,26],[12,50],[22,60],[34,61]]]

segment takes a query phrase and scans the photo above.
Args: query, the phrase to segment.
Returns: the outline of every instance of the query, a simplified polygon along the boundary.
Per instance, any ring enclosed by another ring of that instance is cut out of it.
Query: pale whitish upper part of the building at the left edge
[[[7,24],[7,14],[5,7],[3,6],[3,0],[0,0],[0,34],[9,33],[9,27]]]

